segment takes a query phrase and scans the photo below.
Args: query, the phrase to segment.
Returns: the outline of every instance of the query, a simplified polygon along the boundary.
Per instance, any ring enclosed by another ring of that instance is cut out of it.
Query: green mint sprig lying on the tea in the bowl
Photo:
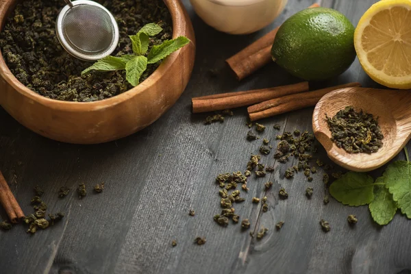
[[[147,64],[154,64],[163,60],[190,42],[188,38],[179,36],[173,40],[166,40],[161,45],[154,45],[147,54],[150,37],[156,36],[160,32],[162,32],[162,27],[155,23],[145,25],[136,35],[129,36],[130,40],[132,40],[134,54],[121,57],[107,56],[82,71],[82,75],[90,71],[125,70],[127,81],[132,86],[137,86],[140,83],[142,73],[147,69]]]

